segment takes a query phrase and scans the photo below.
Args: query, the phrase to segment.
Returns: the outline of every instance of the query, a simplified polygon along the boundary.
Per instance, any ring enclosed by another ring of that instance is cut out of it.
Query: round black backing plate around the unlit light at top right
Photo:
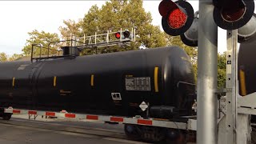
[[[250,21],[250,18],[254,14],[254,0],[244,0],[246,6],[246,12],[238,21],[228,22],[222,18],[221,10],[218,7],[214,7],[214,22],[224,30],[235,30]],[[230,5],[231,6],[231,5]]]

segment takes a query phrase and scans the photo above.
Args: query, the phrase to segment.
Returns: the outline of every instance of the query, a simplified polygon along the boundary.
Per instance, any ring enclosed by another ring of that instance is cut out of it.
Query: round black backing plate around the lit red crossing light
[[[166,32],[166,34],[173,35],[173,36],[185,33],[186,30],[190,28],[194,20],[194,9],[189,2],[177,1],[175,3],[178,4],[178,6],[182,7],[184,10],[186,10],[187,19],[186,19],[185,25],[183,25],[178,29],[173,29],[168,24],[168,17],[167,18],[162,17],[162,29]]]

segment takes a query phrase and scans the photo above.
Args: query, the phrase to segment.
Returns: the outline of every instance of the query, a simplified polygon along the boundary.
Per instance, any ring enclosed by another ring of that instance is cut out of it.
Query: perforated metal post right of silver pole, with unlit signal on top
[[[254,39],[256,33],[256,18],[254,14],[254,0],[214,0],[214,22],[227,30],[226,39],[226,137],[221,137],[226,143],[246,143],[246,129],[250,127],[250,102],[238,97],[238,82],[242,82],[243,70],[238,70],[238,45]],[[238,72],[239,71],[239,72]],[[238,80],[238,75],[240,79]],[[241,88],[242,89],[242,88]],[[243,93],[242,96],[245,96]],[[248,99],[247,99],[248,100]],[[239,102],[239,107],[238,107]],[[245,106],[248,110],[240,109]],[[251,113],[254,114],[254,113]],[[242,121],[242,119],[245,119]],[[248,129],[249,130],[249,129]]]

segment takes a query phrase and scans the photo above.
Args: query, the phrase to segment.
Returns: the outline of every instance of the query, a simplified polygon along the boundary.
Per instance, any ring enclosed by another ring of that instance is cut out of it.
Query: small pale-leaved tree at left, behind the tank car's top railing
[[[32,32],[28,33],[30,35],[30,38],[26,40],[26,46],[23,47],[22,51],[23,53],[28,56],[31,54],[32,44],[42,44],[42,55],[47,54],[47,48],[49,42],[58,42],[58,34],[50,34],[46,33],[45,31],[38,32],[38,30],[33,30]],[[40,46],[34,46],[34,55],[40,54]],[[50,45],[50,54],[57,54],[56,50],[58,50],[59,45],[54,44]]]

